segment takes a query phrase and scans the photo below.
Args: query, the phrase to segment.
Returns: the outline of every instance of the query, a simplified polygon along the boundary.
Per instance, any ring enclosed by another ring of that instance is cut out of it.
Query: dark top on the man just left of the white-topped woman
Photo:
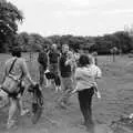
[[[59,61],[59,69],[62,78],[71,76],[71,65],[65,65],[66,54],[62,54]]]

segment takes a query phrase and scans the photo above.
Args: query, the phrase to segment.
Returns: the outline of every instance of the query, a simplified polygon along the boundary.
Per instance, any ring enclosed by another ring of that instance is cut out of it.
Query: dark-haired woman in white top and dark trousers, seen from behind
[[[75,70],[78,98],[86,127],[93,125],[91,109],[92,96],[96,84],[95,79],[99,79],[102,75],[100,68],[91,64],[91,58],[86,54],[82,54],[79,59],[79,68]]]

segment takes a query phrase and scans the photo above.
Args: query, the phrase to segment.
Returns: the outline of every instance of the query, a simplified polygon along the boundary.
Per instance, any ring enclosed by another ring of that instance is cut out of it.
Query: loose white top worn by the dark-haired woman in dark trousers
[[[96,84],[95,79],[102,76],[102,71],[99,66],[91,64],[89,66],[78,68],[75,70],[78,90],[91,89]]]

